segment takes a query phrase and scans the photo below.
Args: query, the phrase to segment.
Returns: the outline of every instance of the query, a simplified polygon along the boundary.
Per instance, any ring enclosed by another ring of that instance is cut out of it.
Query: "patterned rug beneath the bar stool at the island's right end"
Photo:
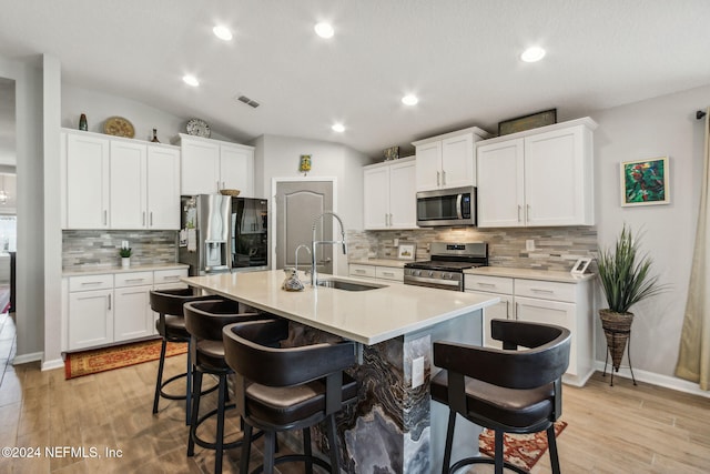
[[[565,427],[567,427],[567,422],[558,420],[555,423],[555,437],[559,436]],[[478,436],[478,448],[480,453],[493,457],[495,453],[494,446],[494,432],[484,428],[483,433]],[[503,435],[503,458],[526,471],[530,471],[546,451],[547,435],[544,431],[535,434],[506,433]]]

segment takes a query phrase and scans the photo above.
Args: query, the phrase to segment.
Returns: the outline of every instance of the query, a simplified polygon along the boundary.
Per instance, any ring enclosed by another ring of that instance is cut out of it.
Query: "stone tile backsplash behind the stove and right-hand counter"
[[[569,271],[577,259],[595,256],[597,229],[588,226],[534,229],[433,228],[406,231],[349,231],[351,260],[396,259],[399,244],[414,243],[417,260],[428,260],[432,242],[488,242],[493,266]],[[526,250],[526,241],[535,250]]]

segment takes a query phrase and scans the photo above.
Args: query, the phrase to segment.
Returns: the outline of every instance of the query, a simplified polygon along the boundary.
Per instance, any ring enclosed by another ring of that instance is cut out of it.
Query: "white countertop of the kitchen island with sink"
[[[282,270],[190,276],[183,282],[209,293],[240,301],[302,324],[373,345],[499,302],[498,297],[423,286],[389,284],[375,290],[346,291],[306,286],[301,292],[281,289]],[[373,284],[372,280],[321,275],[321,279]],[[378,282],[379,283],[379,282]]]

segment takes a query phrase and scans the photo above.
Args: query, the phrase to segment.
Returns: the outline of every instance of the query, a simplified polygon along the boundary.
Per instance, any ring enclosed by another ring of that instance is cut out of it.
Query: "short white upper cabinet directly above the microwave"
[[[476,185],[474,143],[489,134],[477,127],[419,140],[416,147],[416,190]]]

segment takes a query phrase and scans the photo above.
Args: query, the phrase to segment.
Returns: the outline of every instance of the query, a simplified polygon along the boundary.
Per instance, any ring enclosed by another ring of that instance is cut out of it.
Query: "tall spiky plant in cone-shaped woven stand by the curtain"
[[[633,313],[629,310],[639,301],[666,289],[658,283],[658,275],[651,275],[651,258],[639,251],[638,236],[635,240],[626,224],[615,248],[599,250],[598,276],[609,305],[599,310],[599,317],[616,372],[619,372],[631,333]]]

